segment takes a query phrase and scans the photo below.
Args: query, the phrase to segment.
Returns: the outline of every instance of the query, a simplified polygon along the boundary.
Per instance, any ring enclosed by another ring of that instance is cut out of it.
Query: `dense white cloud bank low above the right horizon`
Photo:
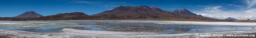
[[[255,10],[254,9],[249,9],[249,10],[222,10],[221,6],[215,6],[211,8],[204,8],[202,11],[194,11],[193,13],[203,15],[205,17],[209,18],[217,18],[217,19],[225,19],[228,17],[231,18],[236,18],[236,19],[256,19],[253,16],[256,16]]]

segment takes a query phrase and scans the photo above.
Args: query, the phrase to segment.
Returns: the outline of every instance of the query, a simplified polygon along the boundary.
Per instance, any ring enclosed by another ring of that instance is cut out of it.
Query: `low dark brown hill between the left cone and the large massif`
[[[87,19],[90,19],[90,16],[81,12],[59,13],[56,15],[49,15],[46,17],[38,18],[38,20],[87,20]]]

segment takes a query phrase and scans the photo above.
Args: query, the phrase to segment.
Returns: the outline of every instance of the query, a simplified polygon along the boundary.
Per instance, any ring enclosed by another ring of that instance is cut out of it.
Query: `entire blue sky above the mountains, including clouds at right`
[[[44,16],[71,12],[93,15],[120,5],[147,5],[168,11],[188,9],[210,18],[255,19],[255,3],[256,0],[0,0],[0,17],[14,17],[26,11]]]

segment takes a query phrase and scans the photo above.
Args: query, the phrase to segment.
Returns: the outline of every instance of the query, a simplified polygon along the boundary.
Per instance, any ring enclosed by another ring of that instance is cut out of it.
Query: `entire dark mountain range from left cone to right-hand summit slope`
[[[136,7],[119,6],[95,15],[87,15],[81,12],[59,13],[56,15],[42,16],[34,11],[28,11],[13,17],[15,20],[184,20],[184,21],[223,21],[215,18],[207,18],[191,13],[187,9],[166,11],[160,8],[140,5]],[[9,18],[8,20],[10,20]]]

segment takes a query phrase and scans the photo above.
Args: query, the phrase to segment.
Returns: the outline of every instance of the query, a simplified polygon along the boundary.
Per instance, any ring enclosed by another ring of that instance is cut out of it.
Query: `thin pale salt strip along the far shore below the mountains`
[[[167,20],[53,20],[53,21],[17,21],[17,22],[58,22],[58,21],[119,21],[119,22],[131,22],[131,23],[157,23],[157,24],[196,24],[196,25],[256,25],[256,23],[247,23],[244,22],[204,22],[204,21],[167,21]],[[1,21],[0,21],[1,22]],[[19,24],[19,23],[4,23],[2,21],[0,24]],[[12,21],[6,21],[12,22]],[[13,21],[15,22],[15,21]]]

